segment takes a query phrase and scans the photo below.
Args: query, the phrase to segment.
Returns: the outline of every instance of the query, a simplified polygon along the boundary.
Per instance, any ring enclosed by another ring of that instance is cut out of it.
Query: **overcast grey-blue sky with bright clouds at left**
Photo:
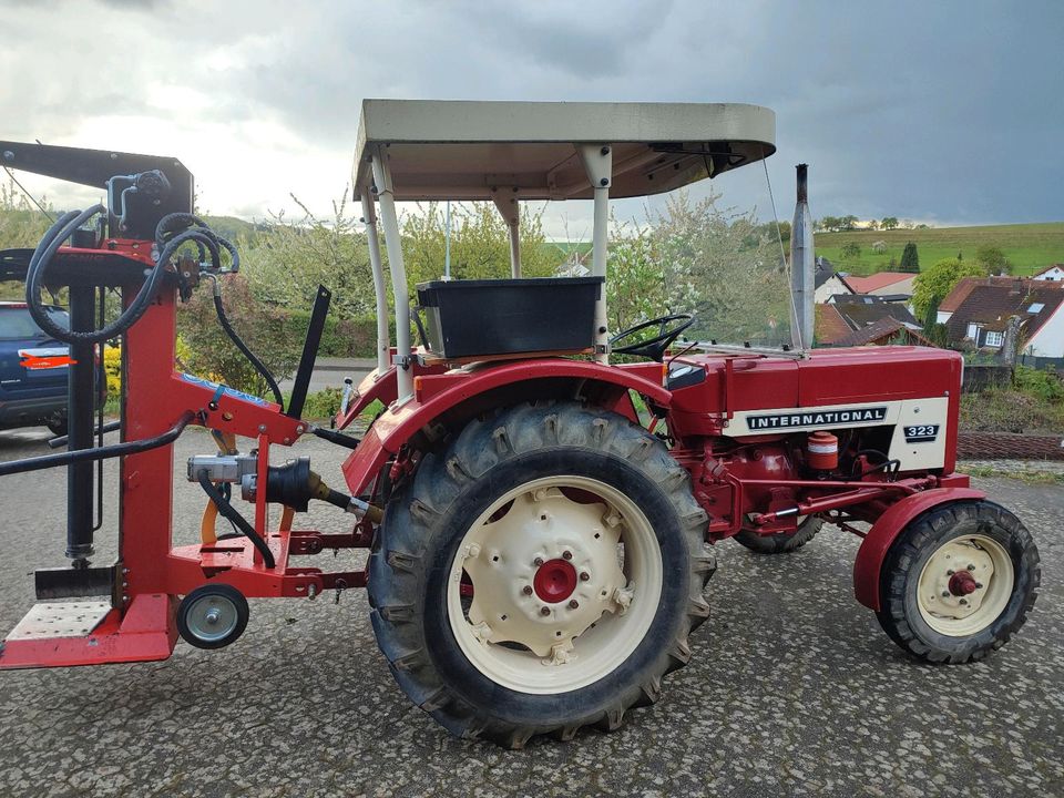
[[[289,192],[327,209],[361,100],[423,98],[758,103],[777,114],[782,218],[808,162],[815,216],[1064,219],[1058,0],[0,0],[0,139],[174,155],[214,214],[291,215]],[[754,177],[719,182],[764,215]],[[27,184],[59,206],[96,198]],[[583,237],[590,208],[565,205]]]

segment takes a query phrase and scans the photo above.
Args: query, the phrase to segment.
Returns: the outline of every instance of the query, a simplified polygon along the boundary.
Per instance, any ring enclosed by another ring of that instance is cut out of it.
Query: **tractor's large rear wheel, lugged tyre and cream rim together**
[[[378,644],[457,736],[520,748],[616,728],[690,657],[706,523],[687,472],[620,416],[560,402],[473,420],[388,504]]]

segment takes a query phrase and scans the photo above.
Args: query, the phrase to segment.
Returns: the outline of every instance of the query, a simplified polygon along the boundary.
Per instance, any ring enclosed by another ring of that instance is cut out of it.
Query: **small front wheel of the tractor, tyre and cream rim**
[[[1015,515],[989,501],[948,504],[891,545],[877,616],[921,659],[982,659],[1026,621],[1041,576],[1039,550]]]

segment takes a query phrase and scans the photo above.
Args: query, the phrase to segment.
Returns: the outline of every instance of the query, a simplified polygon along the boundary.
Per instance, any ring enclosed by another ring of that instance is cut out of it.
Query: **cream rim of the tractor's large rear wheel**
[[[468,610],[463,572],[473,591]],[[632,655],[657,613],[662,575],[654,529],[628,497],[586,477],[548,477],[508,491],[470,525],[448,579],[448,621],[462,653],[492,682],[519,693],[567,693]],[[544,585],[556,595],[541,593]]]

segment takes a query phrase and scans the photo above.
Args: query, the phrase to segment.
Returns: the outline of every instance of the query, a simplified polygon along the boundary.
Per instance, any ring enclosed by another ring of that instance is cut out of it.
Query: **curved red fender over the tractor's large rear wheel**
[[[615,388],[618,397],[634,390],[659,407],[668,407],[672,391],[661,383],[659,364],[604,366],[586,360],[540,358],[521,360],[471,374],[426,375],[416,378],[416,397],[382,413],[342,466],[344,479],[357,495],[389,457],[419,430],[454,406],[503,386],[532,383],[541,379],[570,378]],[[651,379],[651,377],[655,379]],[[531,388],[531,387],[530,387]],[[529,398],[535,396],[528,391]],[[628,402],[631,406],[631,402]]]

